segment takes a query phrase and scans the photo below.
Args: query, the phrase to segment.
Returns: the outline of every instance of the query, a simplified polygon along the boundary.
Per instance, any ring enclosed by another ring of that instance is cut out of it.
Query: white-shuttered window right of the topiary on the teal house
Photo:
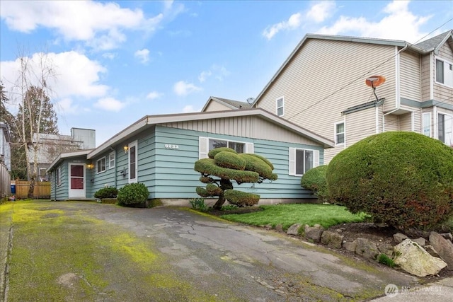
[[[319,166],[319,150],[289,148],[289,175],[302,176]]]

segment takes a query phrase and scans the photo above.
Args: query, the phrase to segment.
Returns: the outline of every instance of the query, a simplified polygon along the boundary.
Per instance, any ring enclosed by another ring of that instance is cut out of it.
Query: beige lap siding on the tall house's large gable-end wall
[[[379,98],[386,99],[386,108],[395,107],[396,63],[389,57],[394,57],[396,51],[396,47],[387,45],[307,40],[260,96],[256,107],[275,114],[275,99],[284,96],[283,118],[334,140],[333,123],[343,120],[341,112],[374,98],[372,88],[365,85],[367,77],[385,76],[386,82],[376,92]],[[322,72],[314,72],[320,68]],[[359,76],[363,77],[352,81]],[[373,120],[376,119],[373,117]],[[347,122],[346,136],[348,129]],[[341,150],[343,146],[326,151],[326,162]]]

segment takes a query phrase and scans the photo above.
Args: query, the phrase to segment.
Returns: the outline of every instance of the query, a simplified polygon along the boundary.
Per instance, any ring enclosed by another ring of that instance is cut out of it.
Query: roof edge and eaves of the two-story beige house
[[[299,42],[299,44],[294,48],[294,50],[289,54],[289,57],[283,62],[283,64],[280,66],[280,68],[277,70],[277,72],[274,74],[272,79],[266,84],[266,86],[263,88],[263,90],[258,94],[258,96],[255,98],[253,103],[251,104],[251,107],[255,106],[258,100],[260,100],[261,96],[265,93],[265,91],[268,90],[270,85],[277,79],[277,77],[280,75],[280,73],[285,69],[287,64],[291,61],[291,59],[299,52],[299,50],[302,49],[302,47],[305,45],[305,43],[308,40],[311,39],[316,39],[316,40],[331,40],[331,41],[343,41],[343,42],[355,42],[355,43],[367,43],[367,44],[374,44],[374,45],[387,45],[387,46],[394,46],[394,47],[407,47],[415,52],[418,52],[420,54],[427,54],[429,52],[437,50],[449,39],[449,37],[453,38],[453,30],[449,30],[446,33],[443,33],[442,35],[438,35],[436,37],[432,37],[431,39],[425,40],[424,42],[420,42],[416,45],[413,45],[411,43],[408,43],[403,40],[386,40],[386,39],[375,39],[375,38],[370,38],[370,37],[349,37],[349,36],[340,36],[340,35],[316,35],[316,34],[306,34],[302,40]],[[430,47],[430,45],[435,45],[435,47]],[[423,48],[422,48],[423,47]],[[427,47],[427,48],[425,48]]]

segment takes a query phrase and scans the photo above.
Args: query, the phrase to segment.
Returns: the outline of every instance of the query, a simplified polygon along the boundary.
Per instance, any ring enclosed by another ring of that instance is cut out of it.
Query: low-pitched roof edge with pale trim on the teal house
[[[277,115],[273,115],[272,113],[261,108],[249,108],[243,110],[192,112],[172,115],[147,115],[145,117],[142,117],[142,119],[138,120],[137,122],[134,122],[134,124],[131,124],[126,129],[122,130],[122,132],[115,134],[112,138],[108,139],[108,141],[105,141],[105,143],[101,144],[101,146],[98,146],[98,148],[93,149],[93,151],[88,153],[87,158],[88,159],[94,158],[98,154],[109,150],[110,147],[116,146],[121,141],[130,139],[131,137],[134,137],[135,134],[138,134],[139,132],[142,132],[144,129],[153,127],[155,125],[166,124],[169,122],[188,122],[195,120],[212,120],[225,117],[244,117],[244,116],[260,117],[263,120],[272,122],[278,127],[283,127],[291,132],[299,134],[302,137],[306,137],[308,139],[311,139],[312,141],[316,141],[317,143],[321,144],[324,148],[333,147],[333,141],[326,139],[325,137],[321,137],[320,135],[315,134],[314,132],[299,127],[297,126],[297,124],[288,122],[287,120],[284,120],[281,117],[277,117]]]

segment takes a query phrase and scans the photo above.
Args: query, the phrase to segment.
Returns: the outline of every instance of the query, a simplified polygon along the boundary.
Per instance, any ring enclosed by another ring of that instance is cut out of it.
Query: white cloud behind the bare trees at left
[[[42,53],[32,54],[29,58],[30,67],[33,71],[39,71],[38,64]],[[110,87],[99,83],[101,74],[107,70],[96,61],[91,61],[79,52],[60,52],[47,54],[48,66],[55,68],[55,78],[47,81],[57,98],[69,98],[81,96],[84,98],[103,97]],[[19,79],[21,59],[15,61],[0,62],[1,80],[4,82],[6,91],[13,91],[14,83]],[[31,76],[30,76],[31,77]],[[36,84],[35,79],[32,83]]]

